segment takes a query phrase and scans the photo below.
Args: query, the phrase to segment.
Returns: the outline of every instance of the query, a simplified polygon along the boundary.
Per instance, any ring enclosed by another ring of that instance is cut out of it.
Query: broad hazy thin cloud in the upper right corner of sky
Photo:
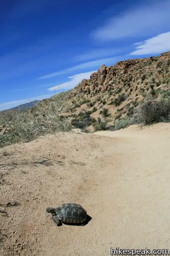
[[[169,24],[170,0],[144,1],[140,6],[111,17],[91,35],[95,40],[101,41],[137,38],[165,32],[169,29]]]

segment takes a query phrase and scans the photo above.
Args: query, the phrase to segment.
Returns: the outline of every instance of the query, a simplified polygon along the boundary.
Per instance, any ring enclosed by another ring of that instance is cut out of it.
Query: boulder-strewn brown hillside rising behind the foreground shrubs
[[[78,117],[89,111],[92,118],[109,117],[112,122],[129,117],[147,98],[170,96],[170,51],[160,56],[129,59],[100,69],[83,79],[74,89],[42,100],[31,109],[34,115],[59,111]],[[103,113],[104,111],[104,113]]]

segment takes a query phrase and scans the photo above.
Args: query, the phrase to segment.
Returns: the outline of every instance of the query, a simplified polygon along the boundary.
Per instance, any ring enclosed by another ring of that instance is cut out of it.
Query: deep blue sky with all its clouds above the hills
[[[1,0],[0,110],[170,51],[170,0]]]

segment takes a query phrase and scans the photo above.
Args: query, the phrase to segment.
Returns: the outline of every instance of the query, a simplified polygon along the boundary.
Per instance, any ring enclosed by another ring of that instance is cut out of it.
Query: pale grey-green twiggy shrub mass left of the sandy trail
[[[66,117],[53,113],[52,110],[33,115],[31,111],[11,115],[0,113],[0,124],[6,127],[0,135],[0,147],[17,142],[29,142],[41,135],[52,132],[69,131],[72,126]]]

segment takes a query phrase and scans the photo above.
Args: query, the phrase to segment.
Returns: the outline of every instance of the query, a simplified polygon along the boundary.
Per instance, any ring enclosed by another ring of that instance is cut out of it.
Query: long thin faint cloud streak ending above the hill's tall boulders
[[[74,71],[84,70],[84,69],[88,69],[88,68],[100,68],[100,65],[102,65],[102,64],[105,64],[105,65],[113,64],[114,60],[115,60],[115,58],[113,58],[113,57],[103,58],[100,60],[93,60],[93,61],[89,61],[89,62],[85,62],[85,63],[79,64],[79,65],[73,66],[71,68],[67,68],[65,70],[51,73],[49,75],[43,75],[42,77],[39,77],[38,79],[46,79],[46,78],[55,77],[57,75],[65,75],[68,73],[72,73]]]

